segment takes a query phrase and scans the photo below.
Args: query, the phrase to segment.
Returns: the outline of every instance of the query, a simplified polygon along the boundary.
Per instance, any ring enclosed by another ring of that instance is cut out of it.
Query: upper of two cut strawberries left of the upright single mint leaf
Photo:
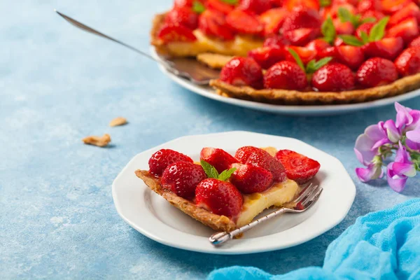
[[[314,28],[321,27],[321,16],[317,10],[310,8],[303,8],[301,10],[293,10],[283,22],[283,33],[299,28]]]

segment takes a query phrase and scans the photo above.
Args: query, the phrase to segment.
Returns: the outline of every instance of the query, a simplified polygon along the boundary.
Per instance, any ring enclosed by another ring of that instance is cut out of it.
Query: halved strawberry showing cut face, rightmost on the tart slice
[[[314,178],[321,167],[316,160],[290,150],[278,151],[276,159],[283,164],[288,179],[300,184],[307,183]]]

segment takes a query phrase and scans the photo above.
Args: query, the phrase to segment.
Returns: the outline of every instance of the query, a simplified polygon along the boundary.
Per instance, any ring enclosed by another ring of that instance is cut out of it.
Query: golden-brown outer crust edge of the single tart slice
[[[204,225],[209,226],[214,230],[219,231],[232,231],[237,228],[235,223],[230,220],[230,218],[226,216],[219,216],[213,214],[206,209],[202,209],[197,207],[192,202],[179,197],[178,195],[172,193],[169,190],[165,190],[160,185],[160,181],[155,176],[149,174],[147,171],[144,170],[137,170],[136,171],[137,177],[146,183],[146,185],[151,188],[155,193],[162,196],[167,200],[170,204],[174,205],[174,207],[178,208],[179,210],[183,211],[188,216],[195,218],[195,220],[200,221]]]

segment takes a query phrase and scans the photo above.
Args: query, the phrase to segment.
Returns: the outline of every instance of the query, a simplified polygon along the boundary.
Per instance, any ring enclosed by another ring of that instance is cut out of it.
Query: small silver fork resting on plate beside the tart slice
[[[295,204],[295,207],[281,207],[280,209],[277,209],[276,211],[273,211],[262,218],[252,221],[251,223],[243,225],[241,226],[241,228],[232,230],[231,232],[216,232],[214,235],[211,235],[211,237],[209,237],[209,241],[214,246],[221,246],[221,244],[225,243],[230,239],[233,239],[233,237],[235,237],[236,235],[239,235],[242,232],[246,232],[247,230],[250,230],[251,228],[255,227],[255,225],[258,225],[259,223],[274,218],[275,216],[279,216],[287,212],[302,213],[304,211],[307,211],[307,209],[314,205],[318,198],[321,196],[322,190],[323,188],[321,188],[321,186],[314,186],[314,184],[311,183],[309,186],[304,188],[302,192],[300,192],[299,197],[293,200],[293,204]]]

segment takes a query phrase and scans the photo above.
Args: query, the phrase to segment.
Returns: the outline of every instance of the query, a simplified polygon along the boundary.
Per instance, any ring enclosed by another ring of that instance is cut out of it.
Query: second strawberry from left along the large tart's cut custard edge
[[[208,36],[216,36],[224,40],[234,38],[233,31],[225,21],[225,15],[216,10],[204,10],[198,20],[198,28]]]

